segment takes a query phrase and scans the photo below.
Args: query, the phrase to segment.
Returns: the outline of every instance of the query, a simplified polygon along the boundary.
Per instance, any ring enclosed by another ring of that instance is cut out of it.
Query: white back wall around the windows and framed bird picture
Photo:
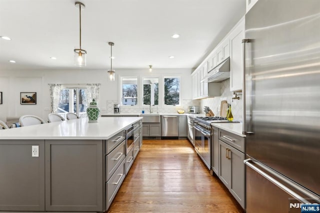
[[[6,120],[7,116],[21,116],[33,114],[46,120],[47,114],[51,112],[49,95],[49,83],[61,84],[85,84],[100,83],[100,98],[98,106],[101,113],[113,112],[113,105],[107,104],[119,100],[119,76],[180,76],[180,95],[182,106],[187,110],[188,105],[199,105],[199,101],[191,100],[191,69],[156,69],[152,72],[148,69],[116,69],[115,81],[108,81],[106,69],[95,70],[6,70],[0,71],[0,91],[2,91],[2,104],[0,104],[0,119]],[[36,104],[21,105],[20,92],[36,92]],[[175,112],[177,107],[159,110]],[[120,109],[121,110],[121,109]],[[141,108],[135,108],[140,112]],[[169,111],[168,111],[169,110]],[[130,112],[123,108],[121,112]],[[135,111],[134,111],[135,112]],[[159,111],[164,112],[164,111]]]

